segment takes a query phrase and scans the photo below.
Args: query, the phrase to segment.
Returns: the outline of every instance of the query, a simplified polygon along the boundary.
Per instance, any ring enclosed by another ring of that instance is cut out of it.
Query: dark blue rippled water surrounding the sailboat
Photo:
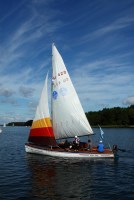
[[[99,130],[94,129],[94,141]],[[62,160],[26,154],[29,128],[6,127],[0,134],[0,200],[134,199],[134,129],[103,129],[118,144],[119,160]]]

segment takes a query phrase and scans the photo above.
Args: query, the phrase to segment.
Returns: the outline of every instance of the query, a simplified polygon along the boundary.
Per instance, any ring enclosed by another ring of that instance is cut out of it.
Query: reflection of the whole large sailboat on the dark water
[[[96,199],[101,165],[114,165],[113,160],[63,160],[31,154],[26,158],[32,175],[31,195],[54,200]]]

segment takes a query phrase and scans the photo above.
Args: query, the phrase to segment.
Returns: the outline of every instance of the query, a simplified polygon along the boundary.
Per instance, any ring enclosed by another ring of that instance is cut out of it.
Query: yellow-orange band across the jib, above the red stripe
[[[32,123],[32,129],[43,128],[43,127],[52,127],[50,118],[39,119],[39,120],[33,121]]]

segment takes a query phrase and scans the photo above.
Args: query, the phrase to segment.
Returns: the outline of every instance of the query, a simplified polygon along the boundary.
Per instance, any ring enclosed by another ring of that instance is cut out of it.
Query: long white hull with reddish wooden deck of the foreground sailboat
[[[41,154],[53,157],[62,158],[114,158],[114,153],[110,149],[105,149],[103,153],[99,153],[96,149],[92,151],[88,150],[68,150],[60,148],[42,148],[30,144],[25,144],[25,150],[27,153]]]

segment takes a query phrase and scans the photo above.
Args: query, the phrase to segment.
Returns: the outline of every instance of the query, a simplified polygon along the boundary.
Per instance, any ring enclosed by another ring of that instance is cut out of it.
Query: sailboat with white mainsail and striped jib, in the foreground
[[[52,118],[50,118],[49,112],[47,82],[48,74],[28,142],[25,144],[26,152],[62,158],[114,158],[111,149],[105,149],[103,153],[99,153],[97,147],[88,150],[87,146],[83,144],[76,151],[71,146],[65,148],[64,145],[58,143],[59,139],[91,136],[94,133],[55,44],[52,44]]]

